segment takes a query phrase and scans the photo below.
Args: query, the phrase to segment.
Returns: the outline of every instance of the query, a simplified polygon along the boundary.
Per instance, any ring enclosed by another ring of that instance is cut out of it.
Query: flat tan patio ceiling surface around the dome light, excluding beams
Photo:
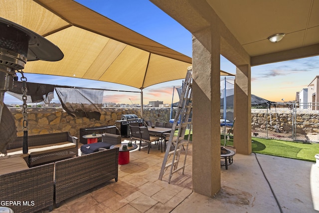
[[[317,0],[207,0],[250,56],[319,43]],[[267,38],[286,33],[283,40]]]

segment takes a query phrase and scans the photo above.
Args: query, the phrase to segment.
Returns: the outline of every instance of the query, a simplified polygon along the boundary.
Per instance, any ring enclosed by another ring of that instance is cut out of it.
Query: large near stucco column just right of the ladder
[[[193,37],[193,191],[213,197],[220,183],[220,36]]]

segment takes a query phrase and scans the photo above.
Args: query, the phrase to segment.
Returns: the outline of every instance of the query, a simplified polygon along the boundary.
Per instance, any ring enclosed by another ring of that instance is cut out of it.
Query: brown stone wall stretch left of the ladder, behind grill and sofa
[[[9,108],[15,118],[17,136],[23,136],[22,108]],[[80,128],[99,127],[116,125],[116,120],[121,119],[121,115],[136,114],[139,118],[140,109],[130,108],[102,108],[100,120],[90,120],[88,118],[73,117],[62,108],[28,108],[28,135],[48,134],[55,132],[70,132],[72,136],[80,137]],[[144,119],[167,122],[169,120],[170,108],[145,108],[143,110]]]

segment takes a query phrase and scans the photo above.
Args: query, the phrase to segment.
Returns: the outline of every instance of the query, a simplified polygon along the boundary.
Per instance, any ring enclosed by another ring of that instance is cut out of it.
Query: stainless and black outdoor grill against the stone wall
[[[130,125],[144,126],[144,121],[135,114],[121,115],[121,120],[116,121],[122,137],[130,137]]]

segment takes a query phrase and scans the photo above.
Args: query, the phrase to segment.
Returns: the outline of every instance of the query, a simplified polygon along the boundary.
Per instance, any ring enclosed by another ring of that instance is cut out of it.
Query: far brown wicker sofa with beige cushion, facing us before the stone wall
[[[24,159],[29,167],[78,156],[78,142],[69,132],[31,135],[27,137],[28,153]],[[22,154],[23,137],[7,144],[7,155]]]

